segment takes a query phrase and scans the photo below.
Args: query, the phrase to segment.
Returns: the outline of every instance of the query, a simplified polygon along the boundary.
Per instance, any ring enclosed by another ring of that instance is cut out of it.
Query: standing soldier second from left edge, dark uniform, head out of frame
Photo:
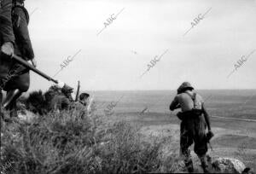
[[[15,34],[15,55],[19,55],[26,61],[32,61],[32,65],[36,67],[27,28],[29,14],[24,7],[24,0],[13,0],[12,23]],[[3,86],[3,90],[7,91],[7,95],[2,105],[4,108],[9,109],[10,117],[16,117],[16,99],[21,96],[22,92],[26,92],[30,85],[29,70],[14,60],[6,60],[5,63],[9,65],[11,78]]]

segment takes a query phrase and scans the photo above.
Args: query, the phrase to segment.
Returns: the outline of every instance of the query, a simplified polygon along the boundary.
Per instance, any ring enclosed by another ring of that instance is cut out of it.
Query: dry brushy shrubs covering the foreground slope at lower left
[[[50,112],[33,123],[1,127],[1,162],[5,173],[142,173],[157,172],[161,146],[143,141],[139,128],[113,123],[95,112],[73,108]]]

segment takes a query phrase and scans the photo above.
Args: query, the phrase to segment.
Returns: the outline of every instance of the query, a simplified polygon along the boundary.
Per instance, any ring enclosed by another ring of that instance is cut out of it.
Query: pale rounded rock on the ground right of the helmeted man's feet
[[[218,158],[212,162],[212,167],[220,173],[241,173],[246,166],[238,159]]]

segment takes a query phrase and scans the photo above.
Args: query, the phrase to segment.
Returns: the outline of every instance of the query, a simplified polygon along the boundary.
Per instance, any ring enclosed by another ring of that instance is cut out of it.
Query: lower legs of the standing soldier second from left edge
[[[10,117],[17,116],[17,109],[14,106],[16,100],[21,96],[22,92],[18,89],[16,90],[9,90],[6,99],[3,102],[3,108],[8,108],[10,110]],[[15,108],[14,108],[15,107]]]

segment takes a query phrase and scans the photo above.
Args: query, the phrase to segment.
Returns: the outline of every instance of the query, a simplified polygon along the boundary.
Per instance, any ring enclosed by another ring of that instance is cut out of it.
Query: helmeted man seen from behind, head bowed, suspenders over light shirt
[[[180,125],[180,148],[184,163],[189,172],[194,172],[193,161],[190,156],[189,146],[195,143],[195,154],[201,159],[204,172],[209,172],[207,165],[207,136],[213,136],[210,119],[202,97],[196,94],[189,82],[184,82],[177,89],[170,110],[181,108],[177,117],[182,120]],[[208,133],[206,134],[206,126]]]

